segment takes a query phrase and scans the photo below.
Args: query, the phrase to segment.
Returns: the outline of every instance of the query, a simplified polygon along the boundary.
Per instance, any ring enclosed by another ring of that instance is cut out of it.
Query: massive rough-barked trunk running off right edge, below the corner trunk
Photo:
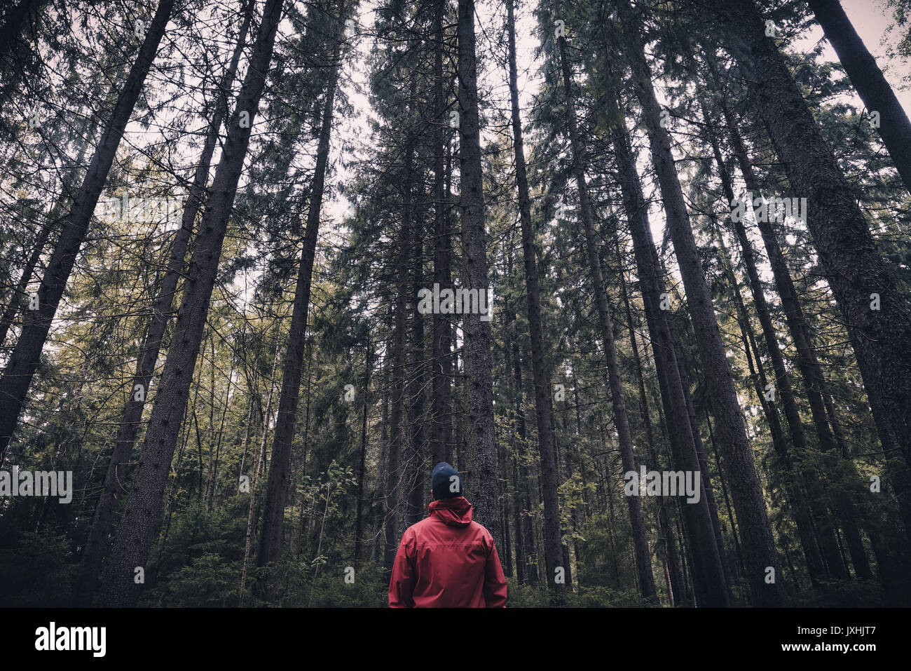
[[[851,185],[835,162],[751,0],[711,0],[729,46],[762,91],[759,115],[793,191],[807,199],[807,228],[852,335],[865,387],[878,397],[911,462],[911,308],[876,248]],[[881,111],[881,110],[880,110]],[[875,296],[874,296],[875,294]],[[879,309],[872,309],[878,298]],[[872,388],[871,388],[872,387]]]

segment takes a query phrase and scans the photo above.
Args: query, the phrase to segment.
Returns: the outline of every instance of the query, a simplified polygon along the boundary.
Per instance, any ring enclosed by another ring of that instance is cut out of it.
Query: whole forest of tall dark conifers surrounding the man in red
[[[0,465],[73,495],[0,604],[382,606],[446,460],[509,606],[911,605],[911,3],[844,5],[4,3]]]

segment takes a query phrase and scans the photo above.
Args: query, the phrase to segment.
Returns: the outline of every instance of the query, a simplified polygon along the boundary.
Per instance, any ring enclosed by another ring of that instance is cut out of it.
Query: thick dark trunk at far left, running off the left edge
[[[6,362],[3,377],[0,378],[0,462],[13,438],[19,413],[26,402],[28,387],[38,367],[41,350],[56,315],[57,305],[67,288],[67,280],[79,254],[79,248],[86,239],[88,223],[95,212],[101,190],[107,181],[117,153],[120,139],[127,127],[130,115],[142,91],[148,70],[159,49],[161,37],[171,15],[174,0],[161,0],[158,10],[148,26],[146,36],[139,47],[139,53],[129,69],[127,81],[120,89],[117,103],[107,121],[107,128],[98,142],[86,177],[76,197],[73,208],[63,222],[60,238],[51,254],[44,279],[38,287],[38,308],[30,310],[22,327],[22,333],[15,349]]]

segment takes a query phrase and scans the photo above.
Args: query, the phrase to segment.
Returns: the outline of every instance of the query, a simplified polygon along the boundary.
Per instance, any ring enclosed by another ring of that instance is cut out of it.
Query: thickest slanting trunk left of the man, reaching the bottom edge
[[[187,407],[192,372],[200,352],[210,298],[228,228],[230,211],[237,193],[243,160],[250,144],[251,128],[241,126],[241,111],[250,115],[250,126],[259,109],[266,73],[269,71],[275,33],[281,18],[282,0],[267,0],[261,26],[253,46],[250,67],[244,77],[237,107],[231,115],[228,139],[212,182],[209,200],[193,259],[187,288],[178,312],[168,358],[161,375],[159,394],[148,420],[146,439],[139,457],[138,472],[130,490],[127,510],[115,535],[101,604],[136,605],[139,583],[134,569],[144,567],[154,538],[161,508],[161,496],[168,480],[171,458]]]

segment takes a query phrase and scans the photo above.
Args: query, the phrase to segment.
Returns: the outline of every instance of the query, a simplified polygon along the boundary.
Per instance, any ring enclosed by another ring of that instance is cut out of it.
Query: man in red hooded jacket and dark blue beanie
[[[505,607],[507,579],[494,538],[471,521],[462,477],[441,461],[431,485],[430,514],[402,534],[389,581],[390,607]]]

